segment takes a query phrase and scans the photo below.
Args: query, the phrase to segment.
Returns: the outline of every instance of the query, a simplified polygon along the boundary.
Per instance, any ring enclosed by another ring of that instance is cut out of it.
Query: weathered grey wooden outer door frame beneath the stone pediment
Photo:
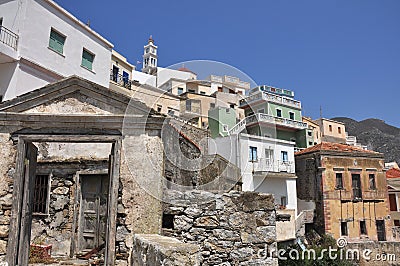
[[[30,234],[21,237],[21,230],[26,223],[21,221],[21,211],[24,204],[24,195],[29,191],[25,186],[24,168],[26,147],[32,142],[70,142],[70,143],[112,143],[111,156],[113,163],[110,165],[110,184],[108,196],[108,219],[106,226],[105,265],[115,265],[115,236],[117,231],[117,206],[119,170],[121,161],[122,137],[116,135],[19,135],[17,137],[17,156],[14,177],[13,202],[10,220],[10,232],[7,244],[6,261],[10,266],[28,265]],[[30,224],[32,219],[30,220]],[[24,254],[22,254],[24,253]]]

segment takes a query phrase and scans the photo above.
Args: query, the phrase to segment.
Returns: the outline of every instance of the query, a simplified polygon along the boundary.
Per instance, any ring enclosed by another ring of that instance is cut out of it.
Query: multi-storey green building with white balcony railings
[[[313,132],[302,121],[301,102],[294,92],[258,86],[240,101],[245,111],[245,121],[233,127],[230,133],[246,128],[247,133],[296,142],[297,148],[314,145]]]

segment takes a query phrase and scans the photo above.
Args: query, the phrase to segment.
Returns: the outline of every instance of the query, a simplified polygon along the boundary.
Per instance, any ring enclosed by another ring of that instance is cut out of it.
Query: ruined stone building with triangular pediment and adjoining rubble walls
[[[28,265],[39,246],[57,263],[260,262],[257,252],[276,245],[273,196],[241,192],[238,169],[202,157],[202,138],[79,77],[2,103],[0,261]],[[223,194],[229,190],[236,192]]]

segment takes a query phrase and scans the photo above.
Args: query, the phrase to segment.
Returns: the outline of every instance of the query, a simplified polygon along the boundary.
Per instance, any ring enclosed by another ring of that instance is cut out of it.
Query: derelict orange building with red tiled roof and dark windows
[[[383,154],[322,142],[295,158],[299,208],[315,208],[316,231],[349,242],[392,240]]]

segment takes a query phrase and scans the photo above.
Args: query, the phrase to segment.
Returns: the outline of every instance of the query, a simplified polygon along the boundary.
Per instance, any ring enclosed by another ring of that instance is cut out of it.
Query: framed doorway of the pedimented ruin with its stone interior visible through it
[[[38,249],[113,265],[120,146],[118,136],[19,136],[11,265],[28,265]]]

